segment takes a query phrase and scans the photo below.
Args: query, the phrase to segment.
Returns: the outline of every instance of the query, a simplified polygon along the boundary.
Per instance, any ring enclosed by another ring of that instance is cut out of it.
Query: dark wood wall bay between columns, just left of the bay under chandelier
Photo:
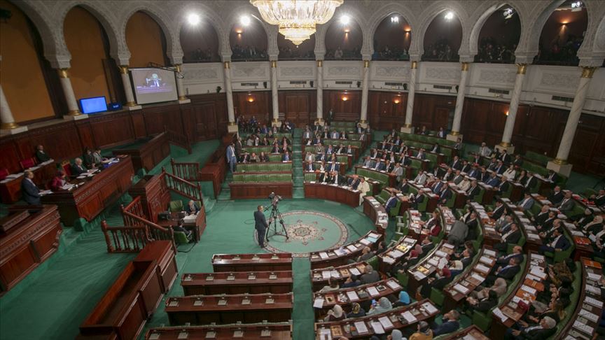
[[[243,116],[246,120],[256,116],[259,123],[268,125],[273,111],[271,92],[233,92],[233,110],[236,116]]]

